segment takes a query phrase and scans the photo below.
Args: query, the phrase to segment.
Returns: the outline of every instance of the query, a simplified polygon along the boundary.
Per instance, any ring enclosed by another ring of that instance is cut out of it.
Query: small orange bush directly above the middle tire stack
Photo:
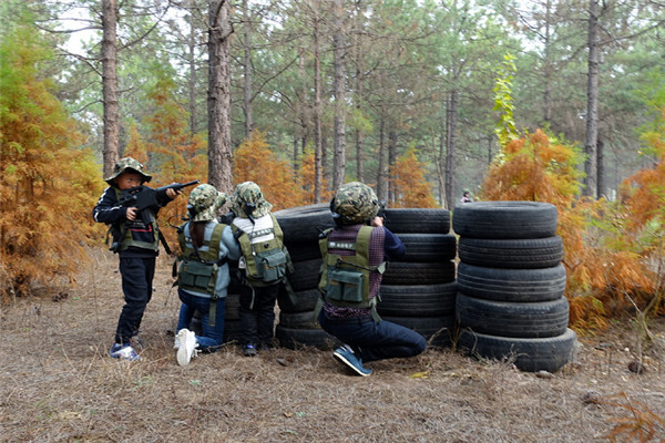
[[[424,178],[424,164],[416,157],[416,150],[408,150],[390,166],[390,182],[395,185],[398,208],[433,208],[437,202]]]

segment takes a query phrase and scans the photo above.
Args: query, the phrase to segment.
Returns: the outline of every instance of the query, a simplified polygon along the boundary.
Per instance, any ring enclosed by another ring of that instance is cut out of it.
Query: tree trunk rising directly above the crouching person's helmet
[[[335,142],[332,153],[332,187],[337,189],[344,185],[346,174],[346,43],[344,38],[344,0],[335,0],[334,9]]]

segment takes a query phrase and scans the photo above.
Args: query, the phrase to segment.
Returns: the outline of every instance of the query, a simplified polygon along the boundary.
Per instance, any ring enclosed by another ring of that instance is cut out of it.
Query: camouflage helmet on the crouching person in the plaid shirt
[[[332,215],[342,225],[354,225],[372,219],[379,212],[379,199],[374,189],[360,182],[341,185],[332,200]]]

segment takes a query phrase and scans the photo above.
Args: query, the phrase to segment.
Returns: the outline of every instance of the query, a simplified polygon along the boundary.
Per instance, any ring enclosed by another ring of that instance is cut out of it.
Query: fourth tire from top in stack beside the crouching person
[[[441,285],[381,285],[380,316],[436,317],[454,313],[457,281]]]

